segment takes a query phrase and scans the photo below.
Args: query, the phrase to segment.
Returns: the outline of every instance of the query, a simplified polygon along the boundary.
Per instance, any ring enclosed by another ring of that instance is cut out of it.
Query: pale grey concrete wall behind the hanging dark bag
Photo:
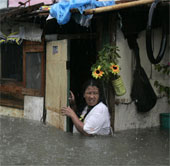
[[[161,31],[158,29],[154,32],[154,52],[155,56],[157,56],[159,48],[160,48],[160,39],[161,39]],[[151,65],[146,53],[145,47],[145,31],[139,34],[138,44],[140,49],[140,57],[141,64],[147,73],[152,87],[155,89],[153,83],[155,80],[159,80],[163,82],[163,84],[168,85],[169,79],[168,77],[159,74],[154,70],[154,66]],[[120,49],[120,66],[121,66],[121,76],[123,77],[127,93],[124,96],[116,97],[116,100],[120,102],[120,104],[115,106],[115,131],[133,129],[133,128],[147,128],[147,127],[155,127],[160,125],[159,114],[169,112],[169,105],[166,97],[161,97],[159,93],[158,101],[154,108],[147,113],[139,113],[137,112],[135,105],[131,102],[130,92],[132,85],[132,74],[134,69],[134,57],[131,50],[128,47],[127,40],[124,38],[120,29],[117,31],[117,45]],[[161,63],[169,62],[169,50],[170,44],[168,42],[165,56]]]

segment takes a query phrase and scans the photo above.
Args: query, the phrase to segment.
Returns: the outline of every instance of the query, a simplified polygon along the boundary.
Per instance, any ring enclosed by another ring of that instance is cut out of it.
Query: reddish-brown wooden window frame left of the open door
[[[27,53],[41,53],[41,89],[28,89],[26,88],[26,55]],[[2,58],[2,57],[1,57]],[[22,81],[0,81],[0,106],[9,106],[14,108],[23,109],[24,108],[24,95],[30,96],[41,96],[44,97],[45,94],[45,49],[44,41],[34,42],[34,41],[23,41],[23,71],[22,71]],[[3,83],[2,83],[3,81]],[[9,97],[14,97],[14,99],[3,98],[2,94],[6,94]],[[18,102],[19,100],[19,102]]]

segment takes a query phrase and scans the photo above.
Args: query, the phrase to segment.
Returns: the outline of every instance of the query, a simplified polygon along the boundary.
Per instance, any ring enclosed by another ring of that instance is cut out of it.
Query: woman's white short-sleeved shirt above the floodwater
[[[87,107],[83,110],[82,115],[85,115],[86,112]],[[110,115],[104,103],[100,102],[87,114],[84,119],[83,130],[92,135],[110,134]]]

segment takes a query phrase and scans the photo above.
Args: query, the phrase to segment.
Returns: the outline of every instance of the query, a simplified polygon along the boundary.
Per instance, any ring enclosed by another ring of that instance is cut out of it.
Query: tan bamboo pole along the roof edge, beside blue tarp
[[[117,5],[112,5],[112,6],[105,6],[105,7],[95,8],[95,9],[87,9],[87,10],[84,11],[84,14],[88,15],[88,14],[108,12],[108,11],[133,7],[133,6],[149,4],[149,3],[152,3],[152,2],[154,2],[154,0],[137,0],[137,1],[133,1],[133,2],[121,3],[121,4],[117,4]]]

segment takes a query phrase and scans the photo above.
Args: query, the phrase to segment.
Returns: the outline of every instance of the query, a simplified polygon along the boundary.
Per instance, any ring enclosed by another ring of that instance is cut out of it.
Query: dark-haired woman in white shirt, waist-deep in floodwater
[[[72,92],[70,106],[62,107],[62,114],[70,117],[74,127],[84,135],[109,135],[110,115],[107,106],[101,99],[100,84],[93,79],[87,81],[84,84],[83,97],[85,100],[85,107],[80,118],[76,114],[76,102]]]

